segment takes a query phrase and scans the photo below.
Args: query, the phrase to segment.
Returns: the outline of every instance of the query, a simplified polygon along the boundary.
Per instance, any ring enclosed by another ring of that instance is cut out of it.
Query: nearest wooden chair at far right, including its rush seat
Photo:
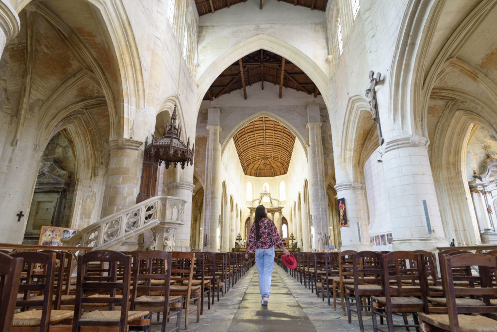
[[[491,269],[497,267],[496,257],[487,254],[462,253],[442,255],[442,283],[447,303],[447,314],[419,313],[424,331],[497,331],[497,288],[492,284]],[[455,284],[453,271],[465,266],[478,266],[480,287],[461,287]],[[483,305],[458,303],[458,297],[476,296]],[[470,315],[464,315],[470,314]],[[491,315],[494,319],[482,316]]]

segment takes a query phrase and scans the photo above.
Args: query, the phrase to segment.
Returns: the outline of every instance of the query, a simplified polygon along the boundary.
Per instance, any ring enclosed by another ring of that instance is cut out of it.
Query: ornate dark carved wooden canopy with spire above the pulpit
[[[184,169],[188,164],[193,165],[193,154],[195,152],[195,144],[190,149],[190,137],[186,144],[180,139],[181,126],[176,126],[176,105],[171,115],[171,124],[164,126],[164,131],[160,139],[156,139],[155,134],[152,134],[151,143],[148,143],[148,137],[145,139],[145,155],[144,160],[153,159],[160,166],[162,162],[169,168],[171,164],[174,168],[179,164],[181,169]]]

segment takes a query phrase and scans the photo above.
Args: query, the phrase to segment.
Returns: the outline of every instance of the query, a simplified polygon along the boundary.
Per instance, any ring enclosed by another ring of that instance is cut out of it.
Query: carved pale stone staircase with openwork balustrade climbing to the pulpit
[[[167,241],[172,243],[176,229],[184,224],[185,203],[173,196],[149,198],[91,224],[64,241],[64,245],[123,250],[123,243],[151,230],[150,249],[163,250],[165,241],[166,246]]]

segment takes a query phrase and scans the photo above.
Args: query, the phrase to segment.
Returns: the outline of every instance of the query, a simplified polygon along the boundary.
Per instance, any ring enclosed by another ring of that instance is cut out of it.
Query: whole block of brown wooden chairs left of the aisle
[[[253,256],[236,253],[97,250],[78,257],[74,279],[65,252],[0,253],[1,331],[150,331],[153,313],[163,314],[162,331],[176,316],[171,331],[179,331],[182,308],[187,329],[204,294],[210,309],[211,294],[219,301],[252,265]]]

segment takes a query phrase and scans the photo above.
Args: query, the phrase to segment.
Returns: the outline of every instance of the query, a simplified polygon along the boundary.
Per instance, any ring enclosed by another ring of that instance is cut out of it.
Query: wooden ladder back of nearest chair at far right
[[[496,299],[497,288],[493,286],[491,269],[497,267],[496,256],[478,253],[461,253],[458,255],[442,255],[441,267],[443,270],[443,287],[447,299],[447,312],[449,315],[450,331],[458,332],[458,314],[497,314],[497,306],[491,305],[491,300]],[[480,287],[457,287],[454,285],[453,271],[465,266],[477,266]],[[481,298],[485,306],[457,305],[456,297]]]

